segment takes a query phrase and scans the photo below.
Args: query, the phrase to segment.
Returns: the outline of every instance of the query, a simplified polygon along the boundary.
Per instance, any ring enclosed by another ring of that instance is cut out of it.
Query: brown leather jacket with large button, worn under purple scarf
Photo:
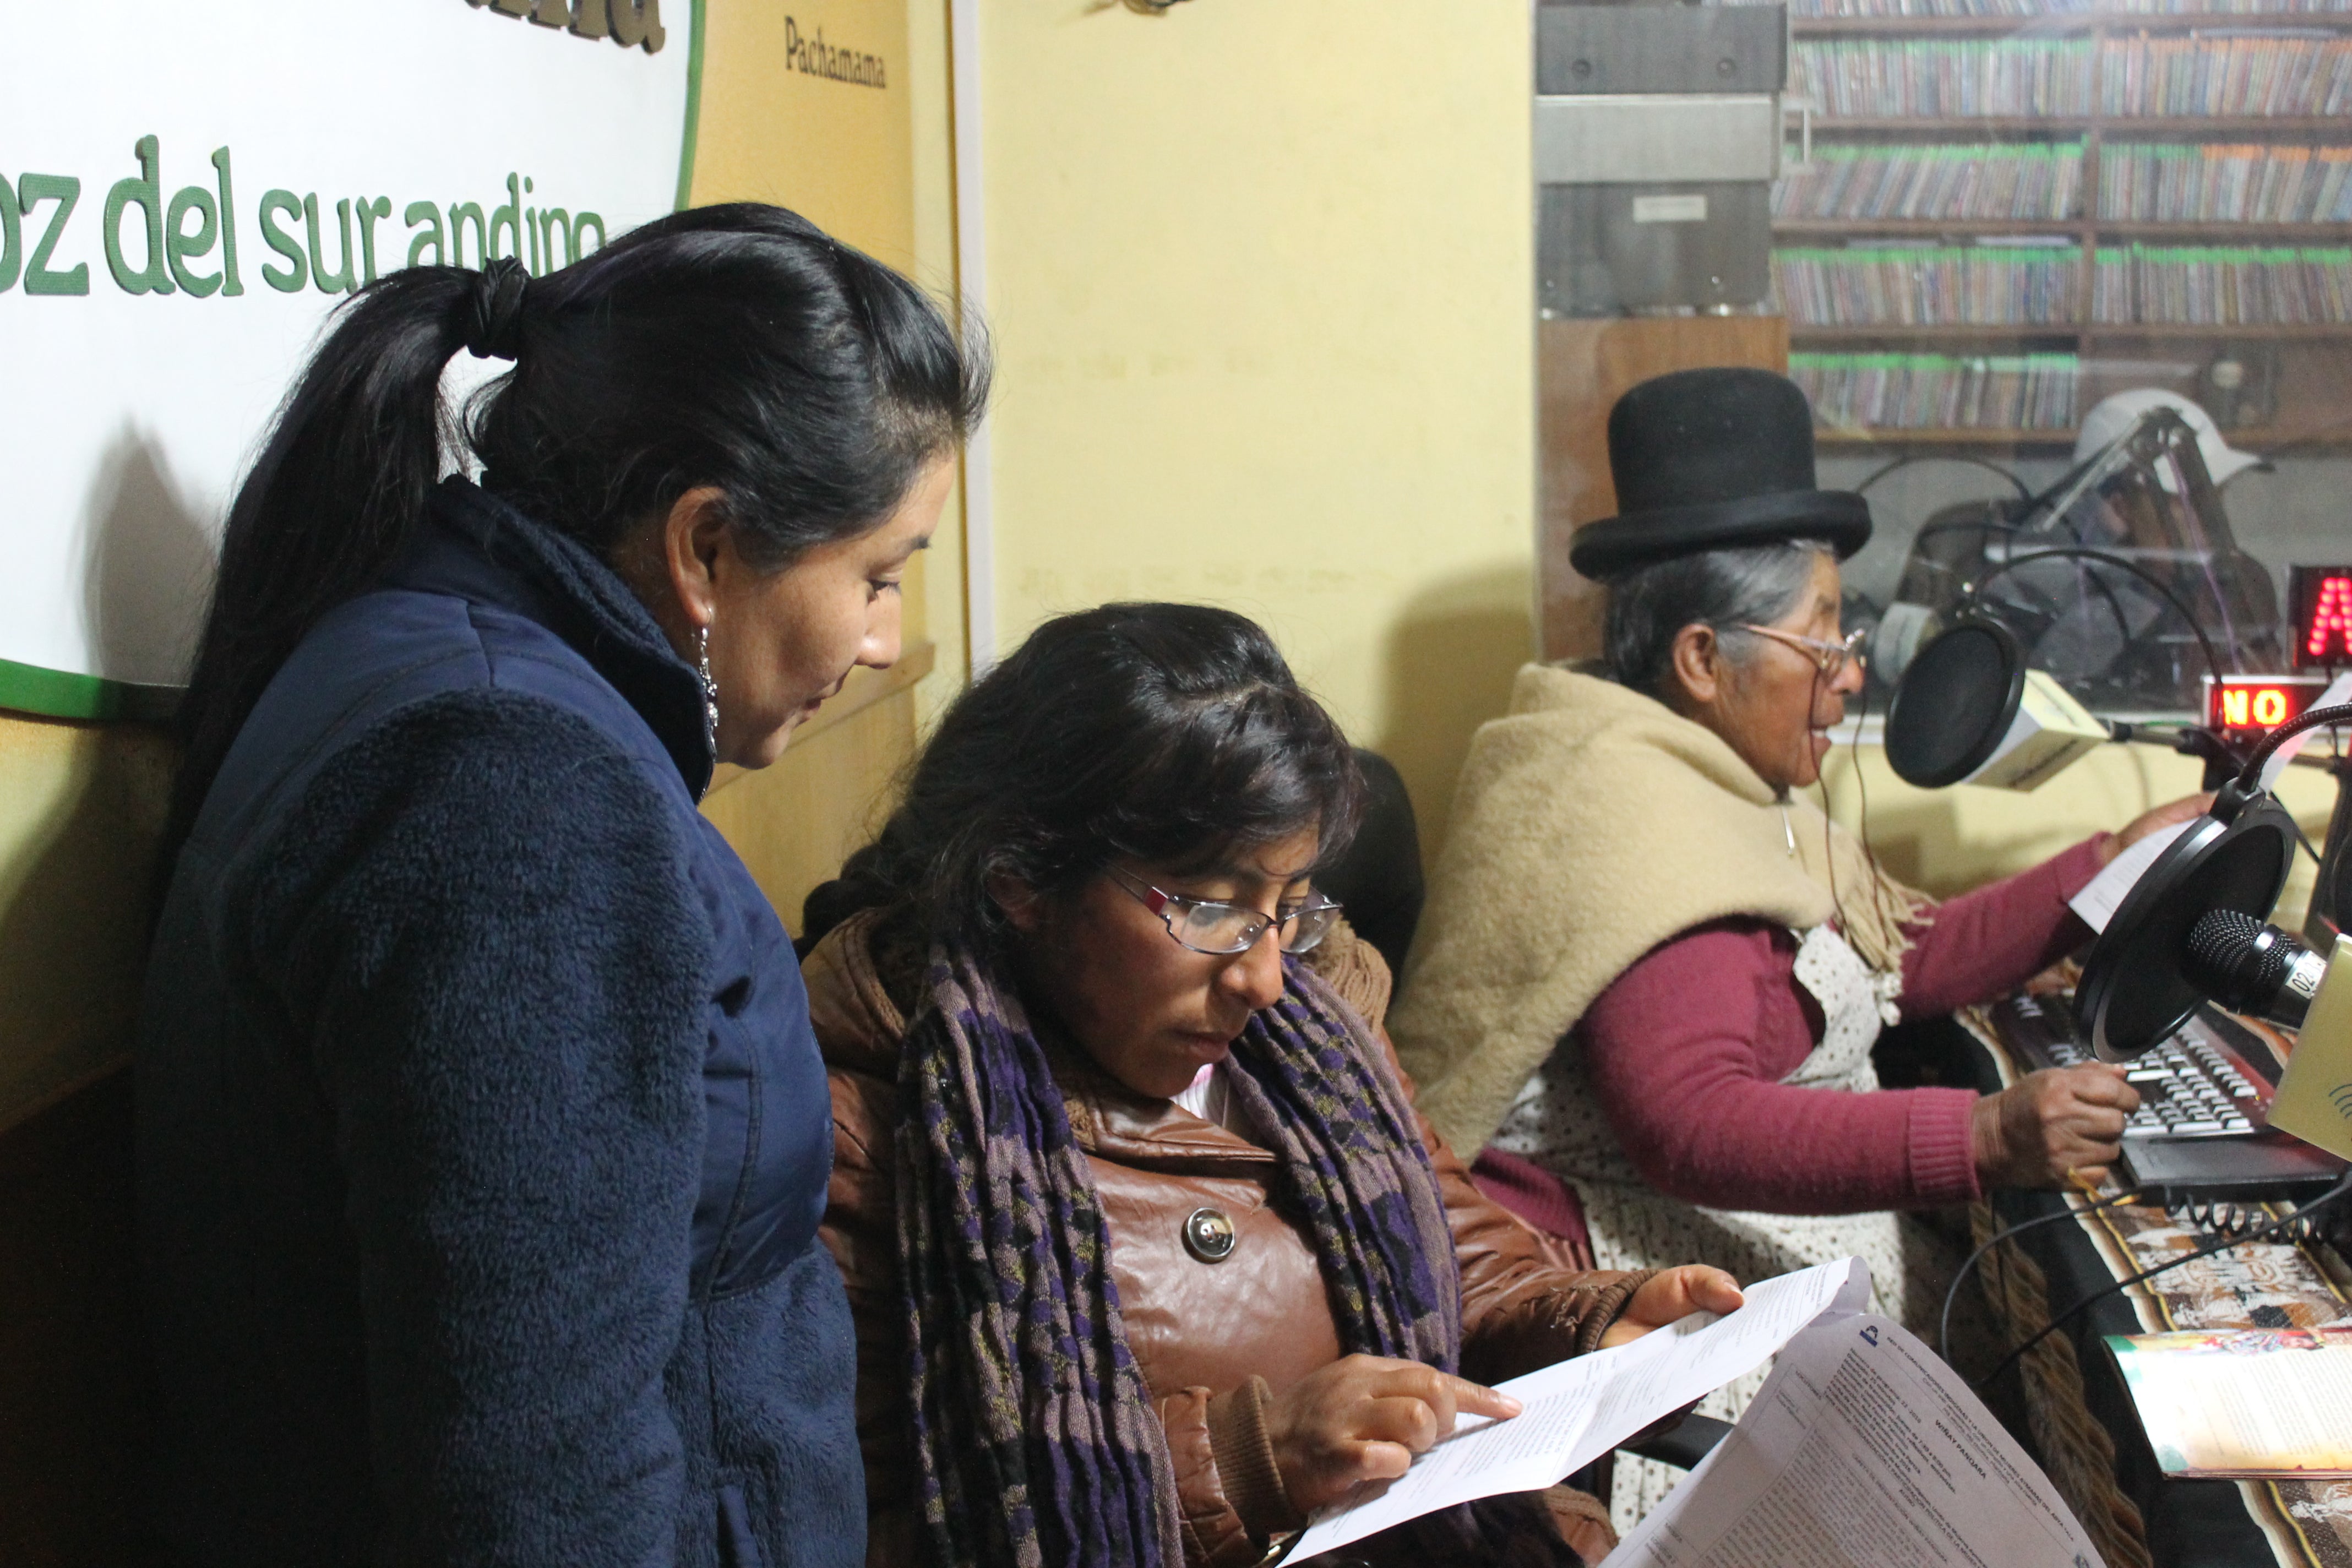
[[[823,1237],[842,1265],[858,1331],[858,1441],[866,1450],[868,1563],[922,1561],[913,1429],[906,1408],[906,1305],[891,1143],[898,1128],[898,1041],[906,1018],[875,973],[868,919],[840,926],[809,952],[809,1013],[833,1079],[833,1190]],[[1388,966],[1345,926],[1312,959],[1374,1023],[1388,1011]],[[903,992],[901,992],[903,994]],[[1127,1340],[1160,1401],[1185,1561],[1254,1563],[1270,1530],[1296,1528],[1261,1403],[1338,1361],[1341,1345],[1315,1253],[1270,1190],[1275,1157],[1171,1100],[1120,1086],[1089,1065],[1061,1072],[1070,1128],[1087,1150],[1110,1218],[1110,1267]],[[1430,1147],[1463,1281],[1463,1375],[1498,1382],[1599,1345],[1625,1298],[1649,1274],[1571,1274],[1543,1260],[1534,1232],[1470,1185],[1428,1121]],[[1202,1262],[1183,1244],[1185,1218],[1216,1208],[1235,1246]],[[1263,1380],[1263,1382],[1261,1382]],[[1562,1488],[1555,1488],[1555,1493]],[[1588,1561],[1613,1544],[1592,1500],[1552,1500],[1564,1535]]]

